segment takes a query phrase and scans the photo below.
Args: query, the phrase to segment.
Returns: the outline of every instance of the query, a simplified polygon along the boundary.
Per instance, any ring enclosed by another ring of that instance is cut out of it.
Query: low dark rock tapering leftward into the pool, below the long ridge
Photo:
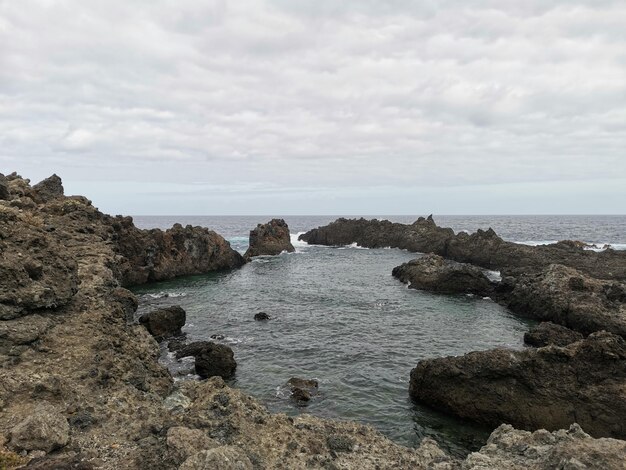
[[[392,275],[412,289],[440,294],[491,295],[493,291],[491,281],[481,269],[432,254],[396,266]]]

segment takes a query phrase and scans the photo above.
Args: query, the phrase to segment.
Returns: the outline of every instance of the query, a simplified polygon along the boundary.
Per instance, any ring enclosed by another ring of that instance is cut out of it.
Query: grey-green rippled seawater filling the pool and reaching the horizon
[[[136,216],[134,221],[140,228],[166,229],[177,222],[208,227],[243,253],[249,231],[273,217]],[[360,421],[409,446],[430,436],[455,455],[479,448],[492,429],[411,402],[411,369],[425,358],[521,349],[533,322],[488,298],[408,289],[391,270],[418,254],[297,241],[298,234],[337,217],[282,217],[295,253],[256,258],[235,271],[140,286],[138,313],[181,305],[189,341],[223,335],[218,341],[233,348],[238,363],[232,385],[272,411]],[[417,216],[365,218],[411,223]],[[435,216],[435,221],[457,232],[492,227],[519,243],[574,239],[626,249],[626,216]],[[261,311],[272,319],[255,322]],[[161,360],[176,378],[193,377],[193,358],[177,361],[163,345]],[[291,377],[317,379],[319,393],[305,406],[294,403],[285,386]]]

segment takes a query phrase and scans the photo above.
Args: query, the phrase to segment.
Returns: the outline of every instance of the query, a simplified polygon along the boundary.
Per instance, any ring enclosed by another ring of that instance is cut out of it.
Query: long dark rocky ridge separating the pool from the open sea
[[[317,245],[349,245],[366,248],[392,247],[470,263],[486,269],[545,267],[562,264],[600,279],[626,280],[626,251],[585,250],[569,241],[552,245],[526,246],[504,241],[492,229],[469,235],[455,234],[420,217],[412,224],[388,220],[337,219],[300,235],[300,240]]]

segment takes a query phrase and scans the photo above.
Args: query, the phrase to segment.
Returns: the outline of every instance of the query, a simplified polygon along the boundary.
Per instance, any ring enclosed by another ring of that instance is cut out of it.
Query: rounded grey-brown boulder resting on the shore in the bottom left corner
[[[51,452],[69,441],[70,426],[56,408],[41,403],[34,413],[11,430],[11,446],[19,450]]]

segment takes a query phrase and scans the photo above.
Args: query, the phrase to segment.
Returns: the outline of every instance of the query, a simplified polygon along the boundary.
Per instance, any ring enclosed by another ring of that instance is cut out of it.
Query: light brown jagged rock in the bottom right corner
[[[487,444],[467,456],[463,470],[620,469],[626,462],[626,442],[593,439],[578,424],[569,430],[533,433],[503,424]]]

